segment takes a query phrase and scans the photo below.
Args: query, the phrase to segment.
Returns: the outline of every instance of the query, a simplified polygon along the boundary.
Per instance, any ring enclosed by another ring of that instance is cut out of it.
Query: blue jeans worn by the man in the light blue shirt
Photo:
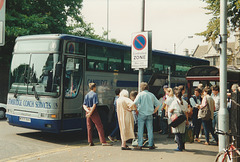
[[[153,146],[153,116],[140,114],[138,114],[138,146],[143,146],[144,124],[147,127],[149,146]]]

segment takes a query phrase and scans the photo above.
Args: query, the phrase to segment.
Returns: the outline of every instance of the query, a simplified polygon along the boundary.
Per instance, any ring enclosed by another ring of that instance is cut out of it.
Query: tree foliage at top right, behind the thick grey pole
[[[212,15],[207,30],[197,33],[197,35],[204,36],[205,41],[210,41],[218,37],[220,34],[220,0],[203,0],[207,3],[205,7],[208,12],[206,14]],[[240,25],[240,0],[228,0],[227,17],[228,17],[228,33],[239,28]]]

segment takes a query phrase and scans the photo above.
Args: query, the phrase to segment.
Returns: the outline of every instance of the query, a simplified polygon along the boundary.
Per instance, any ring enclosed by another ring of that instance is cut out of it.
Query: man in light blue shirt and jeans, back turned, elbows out
[[[138,110],[138,147],[136,149],[142,150],[144,124],[146,124],[147,127],[149,149],[155,149],[153,143],[152,115],[157,112],[160,103],[154,94],[148,91],[149,87],[147,83],[142,82],[140,84],[140,89],[141,92],[137,95],[132,105]]]

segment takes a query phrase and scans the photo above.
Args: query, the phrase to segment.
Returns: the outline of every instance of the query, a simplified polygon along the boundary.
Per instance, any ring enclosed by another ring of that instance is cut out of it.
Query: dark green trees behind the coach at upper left
[[[6,42],[0,47],[0,64],[9,66],[16,37],[64,33],[104,39],[83,21],[83,0],[7,0]],[[116,41],[116,40],[114,40]]]

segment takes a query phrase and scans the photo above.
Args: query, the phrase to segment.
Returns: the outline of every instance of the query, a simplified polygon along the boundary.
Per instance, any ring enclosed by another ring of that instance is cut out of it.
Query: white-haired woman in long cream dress
[[[131,148],[126,145],[126,141],[135,138],[134,119],[131,112],[132,109],[130,108],[130,106],[133,104],[133,101],[128,97],[128,91],[123,89],[120,92],[119,98],[117,100],[117,115],[122,140],[122,150],[131,150]]]

